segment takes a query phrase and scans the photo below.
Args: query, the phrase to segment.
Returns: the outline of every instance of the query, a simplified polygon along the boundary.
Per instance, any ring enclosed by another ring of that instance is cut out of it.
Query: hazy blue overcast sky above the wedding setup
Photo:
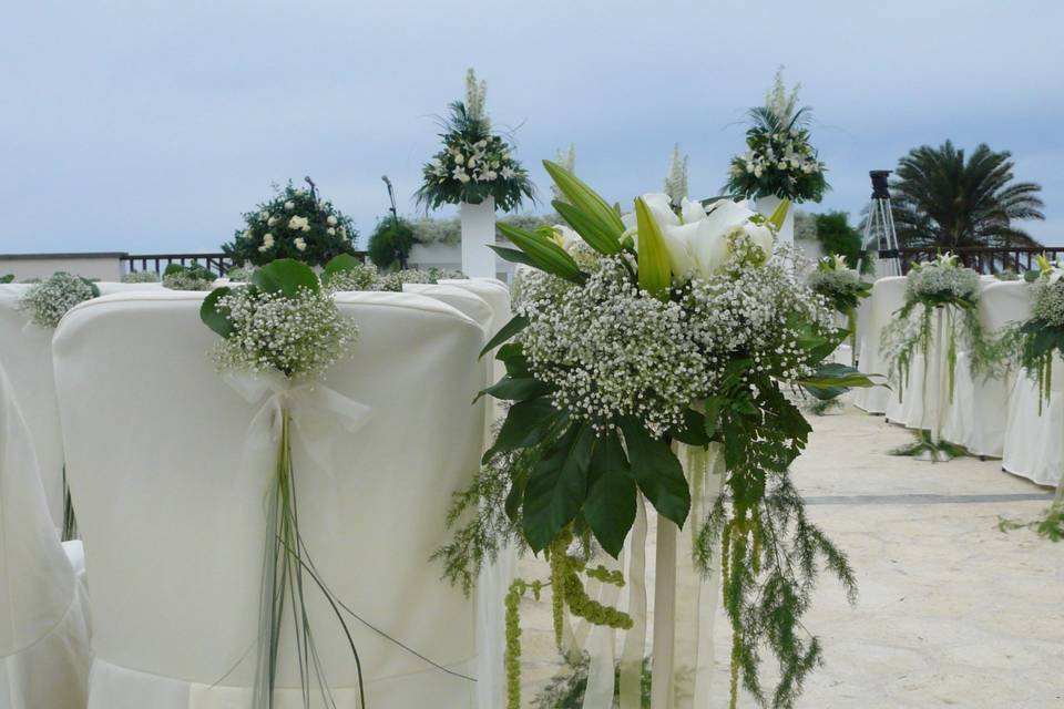
[[[832,186],[804,208],[856,216],[869,169],[985,142],[1043,187],[1025,228],[1064,245],[1062,25],[1060,0],[6,2],[0,253],[216,251],[304,175],[365,237],[381,175],[416,214],[469,66],[540,188],[526,212],[571,143],[611,202],[659,192],[675,143],[718,194],[784,65]]]

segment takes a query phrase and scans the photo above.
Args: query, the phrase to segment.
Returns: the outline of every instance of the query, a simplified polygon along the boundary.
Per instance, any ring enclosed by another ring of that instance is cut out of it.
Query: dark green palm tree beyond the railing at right
[[[947,141],[913,148],[891,184],[901,246],[1040,246],[1014,222],[1044,219],[1032,182],[1013,182],[1012,155],[980,143],[968,161]]]

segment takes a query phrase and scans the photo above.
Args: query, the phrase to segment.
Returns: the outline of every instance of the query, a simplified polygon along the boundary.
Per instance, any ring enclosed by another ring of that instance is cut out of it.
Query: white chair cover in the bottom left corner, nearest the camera
[[[0,367],[0,709],[83,709],[89,621]]]

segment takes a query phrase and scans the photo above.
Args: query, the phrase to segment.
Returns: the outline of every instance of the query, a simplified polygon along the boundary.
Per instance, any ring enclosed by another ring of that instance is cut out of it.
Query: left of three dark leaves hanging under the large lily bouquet
[[[589,424],[574,423],[529,476],[522,522],[533,552],[545,548],[583,506],[594,441]]]

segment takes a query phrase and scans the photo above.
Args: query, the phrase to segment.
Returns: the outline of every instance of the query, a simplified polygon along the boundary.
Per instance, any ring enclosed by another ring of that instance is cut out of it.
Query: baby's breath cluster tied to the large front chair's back
[[[347,353],[358,337],[355,322],[340,315],[332,297],[300,289],[279,292],[236,288],[218,299],[233,333],[212,352],[221,370],[314,378]]]

